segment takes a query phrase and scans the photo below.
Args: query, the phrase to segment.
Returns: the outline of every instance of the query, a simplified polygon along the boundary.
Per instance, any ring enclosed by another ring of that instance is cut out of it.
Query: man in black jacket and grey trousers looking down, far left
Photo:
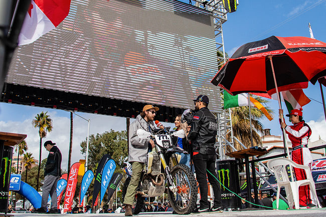
[[[44,184],[42,187],[42,204],[41,208],[35,210],[35,212],[47,212],[47,204],[49,194],[51,196],[52,205],[50,213],[58,213],[57,208],[57,182],[61,177],[61,152],[56,143],[52,141],[46,141],[44,147],[49,151],[47,163],[45,165],[44,171]]]

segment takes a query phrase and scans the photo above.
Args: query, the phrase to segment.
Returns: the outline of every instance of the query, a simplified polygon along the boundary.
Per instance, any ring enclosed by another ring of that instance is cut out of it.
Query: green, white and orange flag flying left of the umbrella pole
[[[232,96],[228,92],[224,91],[224,109],[239,107],[239,106],[249,106],[248,94],[242,93]],[[267,112],[266,108],[258,102],[253,97],[250,97],[250,106],[254,106],[264,113],[268,120],[273,120],[270,114]]]

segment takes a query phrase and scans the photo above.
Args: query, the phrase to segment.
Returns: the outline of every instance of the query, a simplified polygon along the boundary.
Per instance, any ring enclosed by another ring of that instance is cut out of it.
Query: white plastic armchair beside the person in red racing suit
[[[289,176],[286,170],[286,165],[290,165],[295,168],[304,169],[307,179],[298,180],[298,181],[290,181]],[[317,206],[321,208],[320,203],[318,201],[314,181],[311,175],[311,170],[308,166],[300,165],[288,158],[275,158],[271,159],[267,162],[267,167],[274,171],[275,178],[277,180],[277,195],[276,195],[276,208],[278,209],[278,200],[280,189],[282,186],[285,188],[287,201],[289,203],[290,209],[293,209],[293,205],[295,209],[299,209],[299,186],[309,185],[310,191],[314,200],[317,202]]]

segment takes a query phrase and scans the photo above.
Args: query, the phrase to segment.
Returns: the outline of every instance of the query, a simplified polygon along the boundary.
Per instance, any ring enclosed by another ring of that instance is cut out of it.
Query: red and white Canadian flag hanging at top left
[[[32,0],[18,45],[34,42],[56,28],[69,14],[70,0]]]

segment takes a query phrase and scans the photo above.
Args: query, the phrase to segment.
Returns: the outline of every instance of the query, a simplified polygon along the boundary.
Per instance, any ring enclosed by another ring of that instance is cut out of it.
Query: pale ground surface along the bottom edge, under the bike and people
[[[37,213],[10,213],[14,216],[37,216],[37,217],[48,217],[49,215],[61,216],[64,214],[37,214]],[[101,213],[101,214],[65,214],[65,216],[124,216],[124,213]],[[0,216],[2,216],[0,214]],[[137,217],[176,217],[176,216],[218,216],[218,217],[227,217],[227,216],[239,216],[239,217],[254,217],[254,216],[264,216],[264,217],[275,217],[275,216],[293,216],[293,217],[326,217],[326,208],[313,208],[313,209],[300,209],[300,210],[253,210],[253,211],[224,211],[222,213],[217,212],[206,212],[206,213],[191,213],[189,215],[177,215],[172,214],[172,212],[141,212]]]

